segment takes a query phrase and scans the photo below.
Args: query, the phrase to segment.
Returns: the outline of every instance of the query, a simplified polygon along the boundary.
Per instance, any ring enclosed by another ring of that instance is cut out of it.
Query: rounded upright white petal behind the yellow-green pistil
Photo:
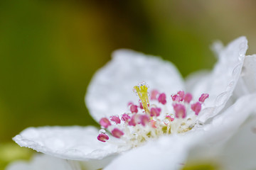
[[[141,81],[166,94],[183,89],[181,75],[171,62],[132,50],[117,50],[88,86],[85,101],[92,117],[98,121],[127,111],[127,103],[139,99],[132,89]]]

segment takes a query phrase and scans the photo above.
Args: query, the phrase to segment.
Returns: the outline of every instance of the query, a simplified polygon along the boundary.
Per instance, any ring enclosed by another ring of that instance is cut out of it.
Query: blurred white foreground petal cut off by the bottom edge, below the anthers
[[[181,135],[161,137],[114,159],[105,170],[180,169],[186,159],[189,140]]]

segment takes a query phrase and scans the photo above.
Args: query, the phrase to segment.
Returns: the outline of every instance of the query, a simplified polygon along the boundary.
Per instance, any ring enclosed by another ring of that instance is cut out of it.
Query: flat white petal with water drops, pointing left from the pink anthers
[[[98,130],[93,127],[27,128],[20,135],[16,135],[14,141],[21,147],[28,147],[37,152],[82,161],[102,159],[129,149],[112,145],[110,142],[100,142],[97,140],[97,134]]]

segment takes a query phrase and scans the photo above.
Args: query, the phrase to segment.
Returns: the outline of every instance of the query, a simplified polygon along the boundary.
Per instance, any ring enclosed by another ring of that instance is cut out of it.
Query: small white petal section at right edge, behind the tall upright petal
[[[256,91],[256,55],[245,56],[242,73],[235,88],[235,95],[254,93]]]

